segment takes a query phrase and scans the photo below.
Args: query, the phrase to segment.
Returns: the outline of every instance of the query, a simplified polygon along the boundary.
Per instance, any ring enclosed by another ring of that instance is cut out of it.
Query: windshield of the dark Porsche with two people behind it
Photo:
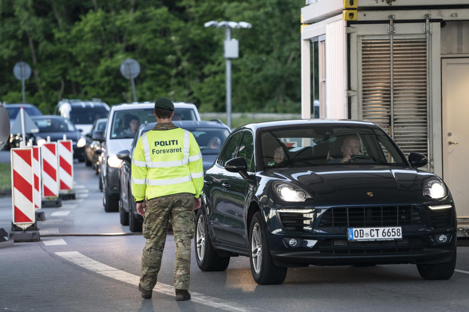
[[[283,127],[262,132],[260,143],[264,169],[405,164],[389,137],[376,128],[344,125]]]

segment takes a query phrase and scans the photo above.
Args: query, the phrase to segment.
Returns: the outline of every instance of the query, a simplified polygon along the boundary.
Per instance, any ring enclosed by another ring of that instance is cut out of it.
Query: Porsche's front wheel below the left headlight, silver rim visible
[[[249,262],[253,278],[259,285],[281,284],[287,275],[287,268],[277,267],[272,259],[267,241],[264,222],[260,212],[254,214],[249,227]]]

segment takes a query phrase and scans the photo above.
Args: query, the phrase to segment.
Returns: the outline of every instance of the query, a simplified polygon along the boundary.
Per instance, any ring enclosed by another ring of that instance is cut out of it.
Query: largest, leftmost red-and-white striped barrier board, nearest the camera
[[[36,221],[33,151],[31,148],[13,148],[10,157],[13,223],[26,229]]]

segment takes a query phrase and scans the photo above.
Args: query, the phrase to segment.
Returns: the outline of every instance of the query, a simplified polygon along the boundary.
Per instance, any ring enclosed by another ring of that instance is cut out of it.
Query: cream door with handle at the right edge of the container
[[[442,59],[443,178],[458,217],[469,216],[469,58]]]

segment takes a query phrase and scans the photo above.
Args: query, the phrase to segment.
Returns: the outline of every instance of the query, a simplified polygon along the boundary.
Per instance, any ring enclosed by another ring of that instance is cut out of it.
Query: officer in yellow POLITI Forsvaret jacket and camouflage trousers
[[[169,98],[157,98],[153,114],[158,123],[138,139],[132,157],[132,194],[147,239],[138,289],[142,298],[151,298],[171,220],[176,300],[188,300],[194,210],[200,207],[204,183],[202,154],[192,133],[171,122],[174,104]]]

